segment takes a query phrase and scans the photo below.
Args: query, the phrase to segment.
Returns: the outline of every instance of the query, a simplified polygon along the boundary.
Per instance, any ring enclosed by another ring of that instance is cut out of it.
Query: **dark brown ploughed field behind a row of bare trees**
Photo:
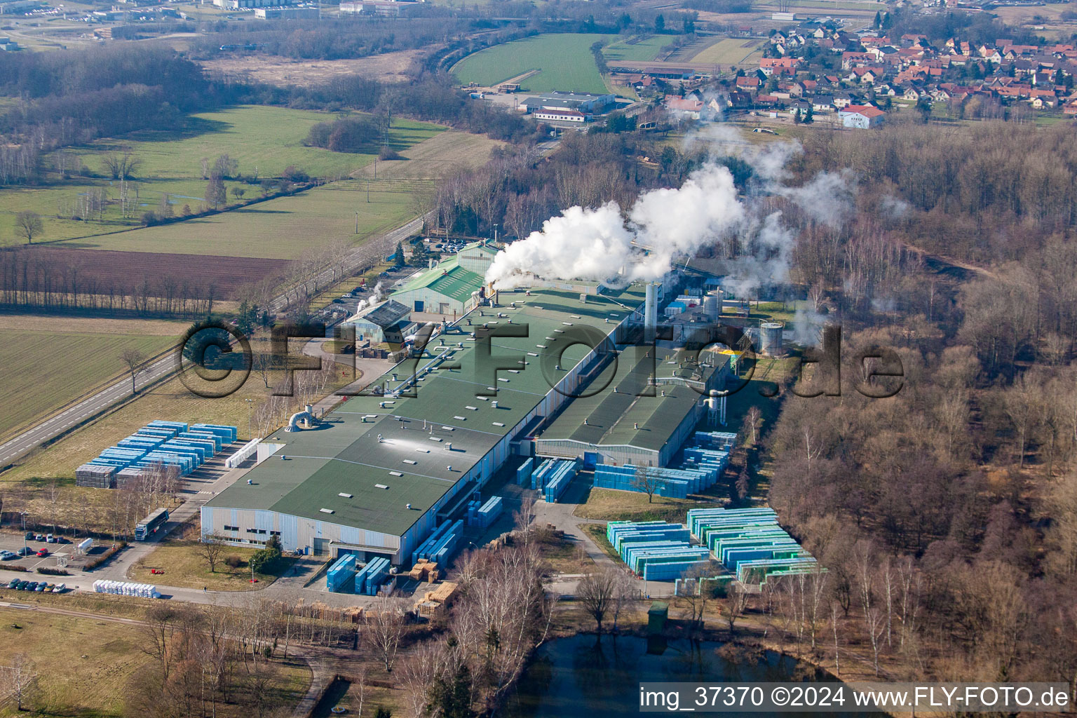
[[[0,266],[29,262],[39,272],[52,270],[57,279],[75,273],[83,292],[92,291],[94,284],[104,291],[110,285],[134,287],[143,281],[156,285],[168,278],[177,285],[212,284],[214,295],[222,299],[234,298],[236,290],[244,284],[279,277],[290,264],[288,259],[261,257],[48,247],[19,248],[0,255]]]

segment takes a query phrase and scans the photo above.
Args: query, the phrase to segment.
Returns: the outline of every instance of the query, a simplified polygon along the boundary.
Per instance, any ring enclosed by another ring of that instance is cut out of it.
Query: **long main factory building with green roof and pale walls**
[[[407,563],[465,510],[520,437],[609,361],[618,327],[639,321],[644,293],[496,297],[467,314],[470,325],[449,325],[421,356],[377,379],[383,395],[351,397],[309,428],[275,432],[266,444],[276,452],[202,507],[201,534],[248,546],[279,536],[285,550]],[[577,335],[590,344],[570,339]]]

